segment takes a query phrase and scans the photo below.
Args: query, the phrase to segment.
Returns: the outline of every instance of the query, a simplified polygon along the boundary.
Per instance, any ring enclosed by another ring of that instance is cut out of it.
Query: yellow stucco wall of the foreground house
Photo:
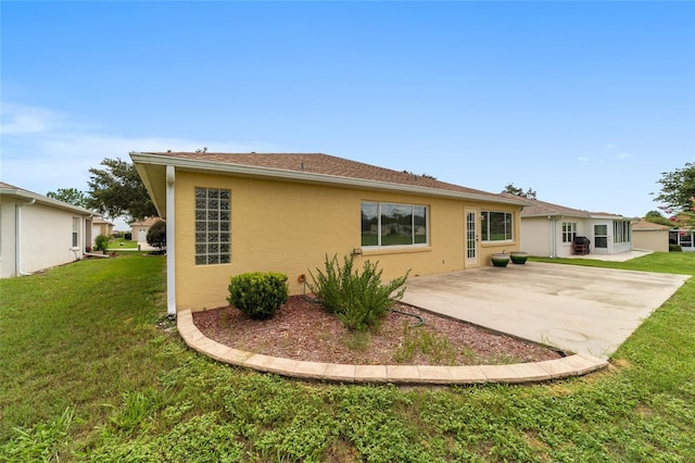
[[[194,188],[231,190],[231,263],[194,263]],[[309,184],[267,182],[254,178],[176,174],[176,298],[177,308],[203,310],[227,304],[229,277],[245,272],[280,272],[289,277],[290,293],[304,288],[298,276],[324,267],[326,254],[361,250],[362,201],[387,201],[428,205],[429,243],[424,248],[363,250],[355,258],[379,261],[384,279],[405,274],[424,275],[462,270],[464,262],[464,207],[516,212],[518,208],[428,198],[393,192],[334,188]],[[479,263],[489,255],[518,250],[518,241],[483,245]],[[309,278],[311,280],[311,278]]]

